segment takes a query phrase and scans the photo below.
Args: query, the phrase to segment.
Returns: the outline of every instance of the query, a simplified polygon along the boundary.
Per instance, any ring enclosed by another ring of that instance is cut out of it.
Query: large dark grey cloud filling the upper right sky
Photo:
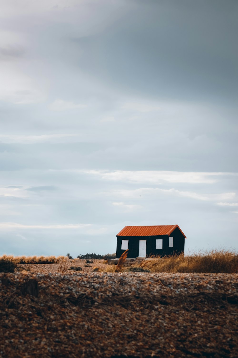
[[[235,99],[237,5],[230,2],[225,9],[224,3],[185,3],[135,3],[121,25],[111,26],[103,36],[79,39],[80,66],[128,94]]]

